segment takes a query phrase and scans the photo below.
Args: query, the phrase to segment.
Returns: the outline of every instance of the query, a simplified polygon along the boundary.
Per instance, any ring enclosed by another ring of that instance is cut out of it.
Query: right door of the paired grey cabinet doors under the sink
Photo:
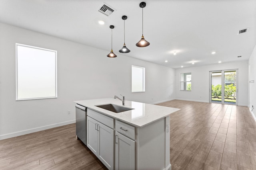
[[[114,130],[99,123],[98,158],[109,169],[114,169]]]

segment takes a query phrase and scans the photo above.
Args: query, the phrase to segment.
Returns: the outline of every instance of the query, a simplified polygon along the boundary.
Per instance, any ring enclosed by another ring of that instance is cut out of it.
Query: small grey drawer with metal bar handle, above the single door
[[[116,120],[116,131],[135,140],[135,127]]]

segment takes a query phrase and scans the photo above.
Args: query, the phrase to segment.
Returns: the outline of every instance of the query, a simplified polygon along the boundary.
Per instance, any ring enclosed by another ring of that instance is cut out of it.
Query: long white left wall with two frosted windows
[[[16,101],[15,43],[58,51],[58,98]],[[117,58],[108,58],[110,51],[0,23],[0,139],[74,123],[75,100],[119,94],[144,103],[175,98],[174,69],[117,50]],[[132,65],[146,68],[146,92],[131,93]]]

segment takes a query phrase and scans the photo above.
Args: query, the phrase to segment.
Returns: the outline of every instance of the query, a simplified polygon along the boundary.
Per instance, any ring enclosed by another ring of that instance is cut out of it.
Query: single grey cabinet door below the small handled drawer
[[[115,169],[135,170],[135,141],[116,132]]]

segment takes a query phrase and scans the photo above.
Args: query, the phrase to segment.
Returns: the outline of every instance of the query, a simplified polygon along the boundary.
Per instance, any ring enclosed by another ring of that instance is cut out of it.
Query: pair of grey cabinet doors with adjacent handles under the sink
[[[114,129],[89,116],[87,116],[87,147],[108,169],[114,169]]]

